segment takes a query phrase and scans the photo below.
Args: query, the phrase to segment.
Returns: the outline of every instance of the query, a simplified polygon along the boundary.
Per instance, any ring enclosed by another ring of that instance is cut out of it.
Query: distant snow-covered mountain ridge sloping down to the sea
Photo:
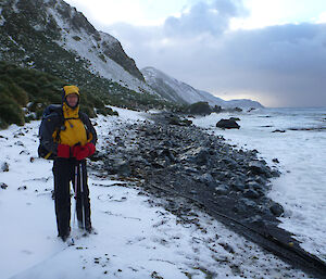
[[[141,69],[141,73],[147,84],[153,90],[162,98],[173,102],[180,102],[184,104],[209,102],[210,105],[220,105],[222,107],[263,107],[259,102],[248,99],[225,101],[209,92],[195,89],[154,67],[145,67]]]

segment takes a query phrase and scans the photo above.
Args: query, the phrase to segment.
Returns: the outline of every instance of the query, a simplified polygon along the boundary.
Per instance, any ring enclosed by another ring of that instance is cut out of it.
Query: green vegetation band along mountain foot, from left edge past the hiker
[[[47,105],[61,103],[62,87],[67,84],[72,83],[45,72],[0,61],[0,128],[39,119]],[[80,109],[90,117],[96,116],[96,112],[116,114],[105,106],[109,104],[133,110],[179,110],[177,104],[156,96],[139,93],[96,76],[89,83],[75,85],[82,90]]]

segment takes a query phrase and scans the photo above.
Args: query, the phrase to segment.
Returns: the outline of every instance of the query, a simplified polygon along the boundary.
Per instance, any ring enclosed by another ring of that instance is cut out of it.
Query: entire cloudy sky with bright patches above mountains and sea
[[[153,66],[225,100],[326,106],[325,0],[65,0]]]

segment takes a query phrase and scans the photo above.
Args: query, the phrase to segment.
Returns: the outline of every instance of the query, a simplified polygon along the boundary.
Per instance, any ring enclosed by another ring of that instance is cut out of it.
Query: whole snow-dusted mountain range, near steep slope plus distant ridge
[[[250,100],[226,102],[153,67],[139,71],[117,39],[63,0],[1,0],[0,61],[48,73],[102,100],[110,97],[114,105],[261,106]]]

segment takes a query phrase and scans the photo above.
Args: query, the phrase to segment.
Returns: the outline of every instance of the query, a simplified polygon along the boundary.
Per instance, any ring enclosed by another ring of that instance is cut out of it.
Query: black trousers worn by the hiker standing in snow
[[[80,168],[83,174],[82,183]],[[52,170],[58,234],[60,237],[67,236],[71,231],[71,181],[75,191],[78,225],[82,228],[85,225],[85,229],[89,230],[91,223],[86,160],[76,161],[75,158],[58,157],[54,160]]]

